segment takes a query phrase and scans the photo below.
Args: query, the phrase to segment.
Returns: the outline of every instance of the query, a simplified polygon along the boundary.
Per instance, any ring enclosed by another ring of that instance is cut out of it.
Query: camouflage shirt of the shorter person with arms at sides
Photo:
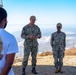
[[[54,32],[51,35],[51,46],[53,50],[61,49],[64,50],[66,46],[66,34],[64,32]]]

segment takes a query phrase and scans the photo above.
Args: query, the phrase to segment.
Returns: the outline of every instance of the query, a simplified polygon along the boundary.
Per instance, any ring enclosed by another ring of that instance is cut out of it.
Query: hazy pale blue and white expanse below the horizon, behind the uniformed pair
[[[19,53],[17,53],[18,57],[23,56],[23,42],[24,40],[21,38],[21,31],[24,25],[8,25],[6,30],[13,34],[16,37]],[[42,38],[38,39],[39,49],[38,53],[44,52],[47,50],[52,50],[50,45],[50,37],[53,32],[56,32],[56,25],[54,24],[43,24],[39,25]],[[75,24],[68,24],[63,25],[62,31],[66,33],[66,49],[75,48],[76,47],[76,25]]]

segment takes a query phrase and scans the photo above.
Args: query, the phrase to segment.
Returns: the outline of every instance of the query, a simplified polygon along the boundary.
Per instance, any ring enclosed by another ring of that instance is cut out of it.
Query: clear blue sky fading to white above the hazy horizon
[[[37,24],[76,24],[76,0],[3,0],[9,24],[27,24],[35,15]]]

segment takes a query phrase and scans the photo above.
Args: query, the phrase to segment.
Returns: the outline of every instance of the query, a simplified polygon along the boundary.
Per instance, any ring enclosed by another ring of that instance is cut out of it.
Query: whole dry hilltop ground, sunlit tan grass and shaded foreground
[[[69,49],[65,52],[63,74],[54,73],[54,59],[51,52],[43,52],[37,56],[37,75],[76,75],[76,49]],[[21,75],[22,58],[16,58],[13,64],[14,72],[16,75]],[[31,73],[31,57],[28,60],[26,68],[26,75],[33,75]]]

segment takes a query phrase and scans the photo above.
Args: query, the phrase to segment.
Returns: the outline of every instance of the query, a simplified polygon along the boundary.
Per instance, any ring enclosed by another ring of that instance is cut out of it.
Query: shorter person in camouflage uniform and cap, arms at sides
[[[62,24],[57,24],[57,32],[54,32],[51,35],[51,46],[53,51],[53,57],[54,57],[54,64],[56,71],[55,73],[63,73],[62,72],[62,66],[63,66],[63,57],[65,52],[65,46],[66,46],[66,34],[61,31]]]

